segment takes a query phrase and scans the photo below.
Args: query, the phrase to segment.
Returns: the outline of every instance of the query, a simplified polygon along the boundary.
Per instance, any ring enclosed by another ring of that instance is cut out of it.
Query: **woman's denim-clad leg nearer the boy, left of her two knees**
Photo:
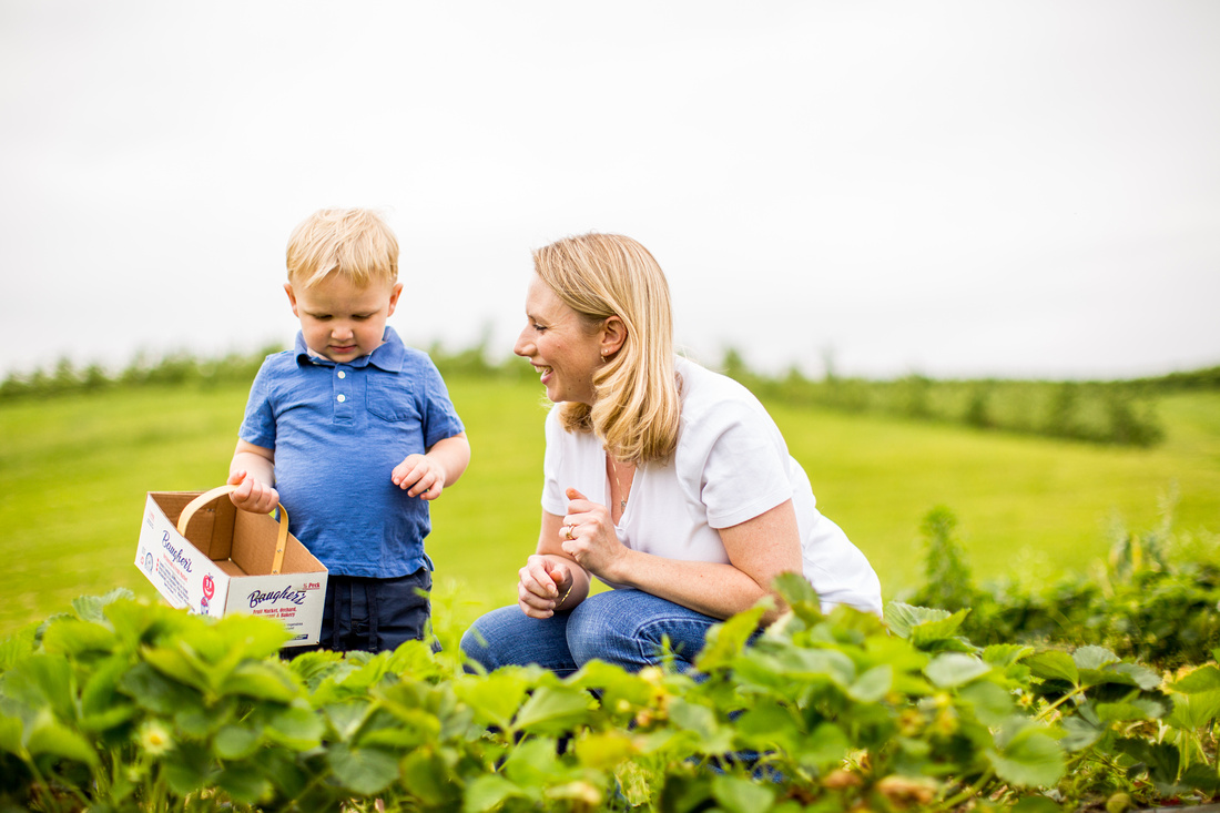
[[[567,613],[529,618],[516,604],[482,616],[461,636],[461,651],[488,671],[538,664],[560,676],[576,671],[567,649]]]

